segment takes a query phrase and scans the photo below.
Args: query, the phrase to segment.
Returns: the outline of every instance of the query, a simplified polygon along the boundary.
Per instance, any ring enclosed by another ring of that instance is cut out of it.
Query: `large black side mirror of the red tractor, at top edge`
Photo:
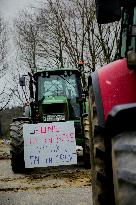
[[[120,20],[120,0],[95,0],[95,3],[96,18],[99,24],[106,24]]]

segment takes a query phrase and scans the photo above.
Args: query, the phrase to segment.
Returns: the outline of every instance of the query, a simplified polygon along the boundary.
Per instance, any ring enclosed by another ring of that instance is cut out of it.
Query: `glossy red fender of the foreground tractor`
[[[101,106],[96,102],[97,112],[102,112],[103,120],[106,121],[108,113],[115,105],[136,102],[136,73],[128,69],[126,59],[112,62],[96,72],[99,86],[96,86],[94,74],[93,88],[95,95],[100,95],[96,96],[96,101],[101,100]]]

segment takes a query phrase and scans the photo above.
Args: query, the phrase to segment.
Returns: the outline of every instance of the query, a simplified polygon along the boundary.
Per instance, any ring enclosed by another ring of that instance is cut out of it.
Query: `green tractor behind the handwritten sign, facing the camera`
[[[74,121],[76,145],[83,147],[85,167],[90,167],[88,96],[85,75],[79,69],[39,69],[28,73],[30,103],[24,116],[13,119],[10,127],[11,166],[14,173],[25,170],[23,125]],[[20,78],[25,86],[25,76]]]

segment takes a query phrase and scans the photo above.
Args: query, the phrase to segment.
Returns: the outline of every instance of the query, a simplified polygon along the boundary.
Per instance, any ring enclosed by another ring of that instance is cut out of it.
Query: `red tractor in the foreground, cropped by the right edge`
[[[96,15],[99,24],[121,18],[121,35],[120,59],[89,78],[93,204],[134,205],[136,0],[96,0]]]

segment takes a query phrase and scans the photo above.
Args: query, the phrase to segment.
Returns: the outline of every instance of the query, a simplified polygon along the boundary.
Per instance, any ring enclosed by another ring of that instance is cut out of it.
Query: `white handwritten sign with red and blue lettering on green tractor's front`
[[[26,168],[77,164],[74,122],[24,124]]]

